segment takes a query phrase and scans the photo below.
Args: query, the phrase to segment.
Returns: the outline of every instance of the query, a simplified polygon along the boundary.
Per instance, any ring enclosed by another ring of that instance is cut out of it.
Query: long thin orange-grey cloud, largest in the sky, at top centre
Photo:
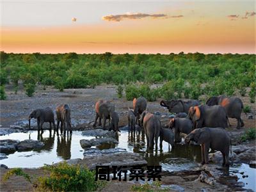
[[[108,21],[115,21],[119,22],[124,19],[142,19],[145,17],[150,17],[152,19],[157,19],[157,18],[164,18],[167,15],[165,14],[147,14],[147,13],[126,13],[122,15],[106,15],[102,17],[102,20],[108,20]]]

